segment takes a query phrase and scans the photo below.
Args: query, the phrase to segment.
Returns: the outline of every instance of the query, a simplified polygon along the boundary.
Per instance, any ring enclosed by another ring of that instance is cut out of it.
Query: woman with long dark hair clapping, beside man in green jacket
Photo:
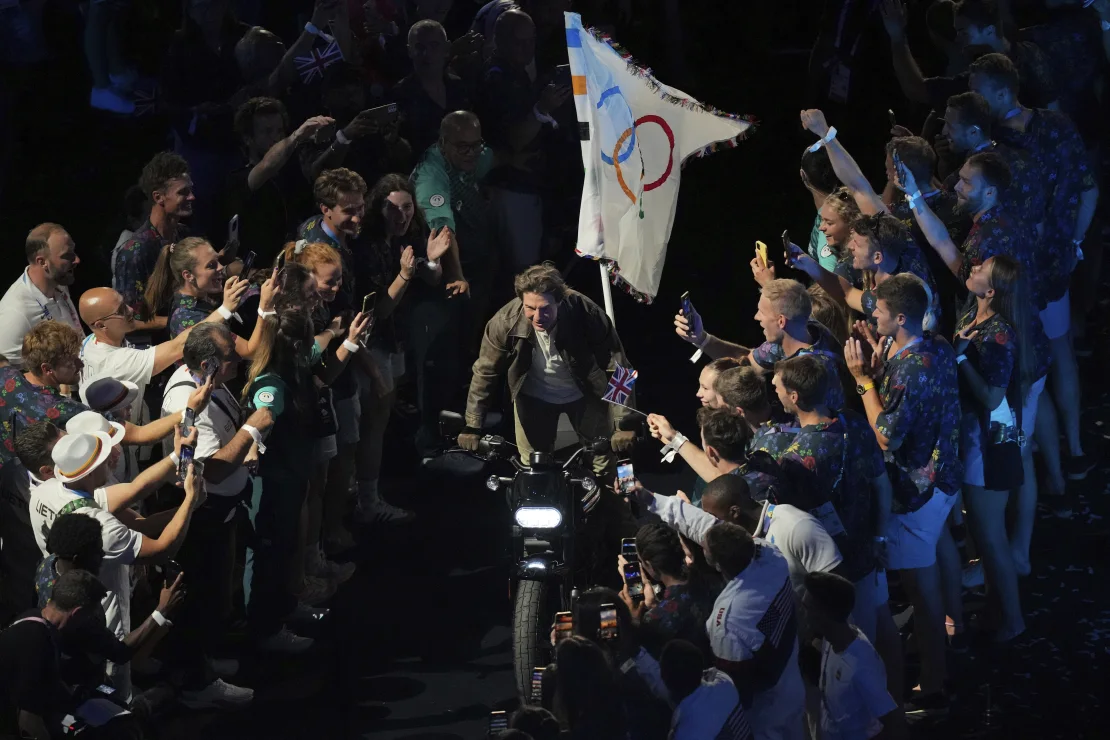
[[[413,514],[382,499],[377,479],[382,470],[382,446],[390,410],[396,401],[397,381],[405,373],[405,347],[402,341],[403,318],[398,307],[412,282],[437,285],[442,275],[441,257],[451,246],[446,229],[428,234],[424,213],[416,205],[408,178],[387,174],[370,191],[366,206],[369,246],[360,252],[355,275],[360,292],[373,294],[374,334],[370,352],[354,364],[359,382],[357,434],[350,457],[356,469],[342,470],[336,484],[357,481],[356,517],[363,524],[405,521]],[[423,260],[417,263],[416,246]],[[434,265],[434,266],[432,266]]]

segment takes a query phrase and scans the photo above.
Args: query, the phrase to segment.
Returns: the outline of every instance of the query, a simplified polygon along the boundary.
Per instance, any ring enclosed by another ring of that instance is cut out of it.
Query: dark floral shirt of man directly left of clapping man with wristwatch
[[[833,422],[801,427],[778,464],[785,487],[798,497],[796,504],[784,503],[821,519],[844,557],[845,578],[856,581],[874,570],[874,480],[886,468],[867,418],[845,412]],[[826,503],[833,505],[836,521],[820,511]]]

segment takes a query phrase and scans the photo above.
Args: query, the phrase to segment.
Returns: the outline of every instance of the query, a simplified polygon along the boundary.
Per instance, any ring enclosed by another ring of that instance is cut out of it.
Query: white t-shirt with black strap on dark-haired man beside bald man
[[[192,383],[193,385],[179,385],[182,383]],[[196,379],[185,365],[174,371],[165,384],[162,416],[174,413],[180,415],[181,409],[189,403],[189,396],[196,389],[195,384]],[[228,412],[235,416],[229,416]],[[239,403],[228,386],[221,385],[215,388],[204,410],[196,415],[198,435],[196,450],[193,453],[194,459],[206,460],[231,442],[231,438],[239,432],[241,416]],[[172,440],[169,440],[169,444],[172,446]],[[238,496],[246,487],[248,477],[246,468],[240,466],[220,483],[208,483],[205,487],[210,495]]]

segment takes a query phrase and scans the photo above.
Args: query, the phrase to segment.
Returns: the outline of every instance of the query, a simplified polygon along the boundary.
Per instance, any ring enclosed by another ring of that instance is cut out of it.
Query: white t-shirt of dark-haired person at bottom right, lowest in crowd
[[[882,731],[880,717],[898,708],[887,691],[879,653],[859,629],[844,652],[821,646],[821,740],[866,740]]]

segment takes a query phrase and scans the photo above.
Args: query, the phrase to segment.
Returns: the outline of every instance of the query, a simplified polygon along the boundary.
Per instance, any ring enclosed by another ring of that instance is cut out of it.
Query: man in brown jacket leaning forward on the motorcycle
[[[554,452],[564,413],[579,437],[609,436],[614,452],[630,449],[636,433],[620,430],[629,410],[602,401],[608,373],[616,365],[628,367],[613,322],[601,306],[568,288],[551,263],[525,270],[514,288],[516,297],[486,324],[458,446],[478,449],[490,399],[507,374],[523,464],[533,450]],[[610,455],[597,455],[594,473],[610,473],[612,463]]]

